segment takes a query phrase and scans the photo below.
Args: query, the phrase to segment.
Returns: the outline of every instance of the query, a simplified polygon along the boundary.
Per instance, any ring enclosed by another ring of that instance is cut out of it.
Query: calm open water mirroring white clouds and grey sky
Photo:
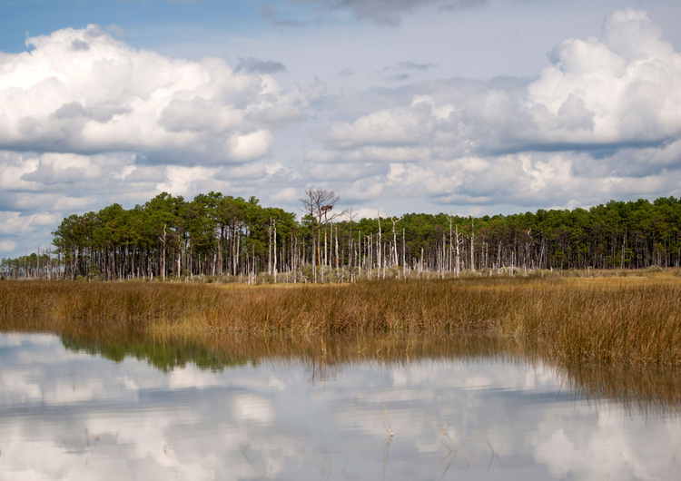
[[[673,409],[580,398],[540,362],[90,352],[0,334],[0,479],[681,477]]]

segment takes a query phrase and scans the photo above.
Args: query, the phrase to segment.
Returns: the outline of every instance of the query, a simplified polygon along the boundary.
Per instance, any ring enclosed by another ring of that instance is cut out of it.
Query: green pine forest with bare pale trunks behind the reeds
[[[161,193],[64,219],[53,246],[3,259],[3,279],[328,282],[435,273],[679,267],[681,200],[494,216],[411,213],[359,219],[332,191],[299,212],[255,197]],[[312,266],[316,266],[312,269]]]

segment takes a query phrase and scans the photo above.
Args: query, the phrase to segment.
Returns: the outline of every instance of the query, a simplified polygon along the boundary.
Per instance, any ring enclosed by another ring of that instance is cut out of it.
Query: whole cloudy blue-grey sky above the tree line
[[[0,0],[0,256],[167,191],[509,214],[681,196],[676,0]]]

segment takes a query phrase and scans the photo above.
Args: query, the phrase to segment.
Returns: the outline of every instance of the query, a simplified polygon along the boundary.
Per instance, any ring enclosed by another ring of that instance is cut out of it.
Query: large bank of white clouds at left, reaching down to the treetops
[[[289,172],[258,161],[325,92],[317,79],[281,86],[273,61],[175,59],[96,25],[26,44],[0,53],[0,242],[15,255],[48,243],[65,215],[113,202],[283,189]]]

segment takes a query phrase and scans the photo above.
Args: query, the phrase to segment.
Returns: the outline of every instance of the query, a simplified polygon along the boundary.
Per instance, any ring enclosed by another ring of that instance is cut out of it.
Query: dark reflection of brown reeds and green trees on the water
[[[305,365],[312,380],[335,378],[348,366],[370,363],[380,367],[406,367],[414,361],[439,362],[500,360],[555,369],[561,389],[592,401],[615,400],[621,407],[657,413],[681,408],[681,373],[674,368],[636,364],[566,362],[551,348],[538,342],[498,336],[452,335],[449,333],[395,333],[361,336],[243,336],[201,335],[162,339],[130,335],[125,339],[102,336],[75,339],[63,336],[64,347],[120,362],[126,356],[146,359],[163,372],[188,363],[201,369],[291,362]]]

